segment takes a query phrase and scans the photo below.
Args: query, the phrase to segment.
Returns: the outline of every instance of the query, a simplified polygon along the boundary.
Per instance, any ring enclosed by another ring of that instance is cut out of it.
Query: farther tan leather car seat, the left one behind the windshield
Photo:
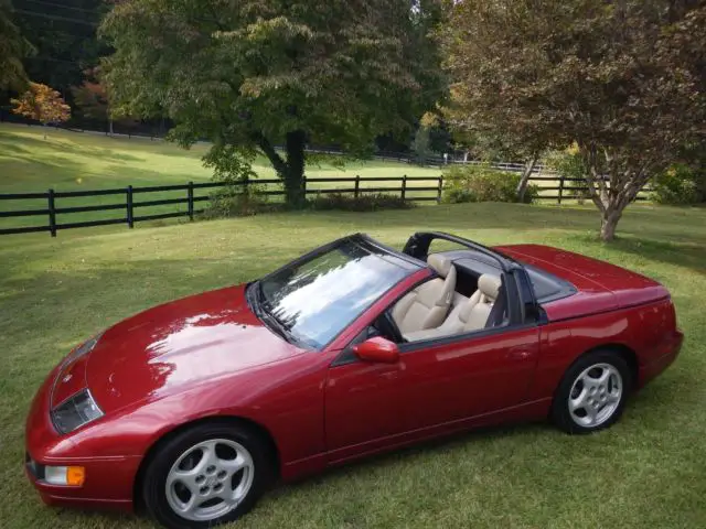
[[[439,253],[430,255],[427,264],[436,270],[440,278],[417,287],[393,307],[393,319],[403,335],[437,327],[449,313],[456,290],[456,268],[451,259]]]

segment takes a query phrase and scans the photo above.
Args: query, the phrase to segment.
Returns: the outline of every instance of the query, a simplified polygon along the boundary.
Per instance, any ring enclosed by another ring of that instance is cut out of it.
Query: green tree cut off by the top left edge
[[[9,0],[0,0],[0,90],[22,91],[28,78],[22,60],[34,48],[12,21]]]

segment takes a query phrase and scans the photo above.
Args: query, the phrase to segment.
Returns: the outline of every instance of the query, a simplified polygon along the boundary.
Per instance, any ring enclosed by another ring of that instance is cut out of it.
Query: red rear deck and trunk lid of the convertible
[[[550,320],[640,305],[670,295],[663,285],[650,278],[580,253],[542,245],[514,245],[498,249],[576,287],[576,294],[543,305]]]

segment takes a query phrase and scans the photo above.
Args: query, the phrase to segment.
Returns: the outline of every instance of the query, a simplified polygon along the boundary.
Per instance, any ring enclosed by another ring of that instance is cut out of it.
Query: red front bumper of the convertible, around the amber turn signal
[[[50,395],[58,368],[46,378],[32,402],[25,428],[28,478],[47,505],[132,510],[135,477],[139,456],[86,456],[76,454],[71,435],[60,435],[50,419]],[[81,487],[50,485],[43,479],[45,466],[83,466]]]

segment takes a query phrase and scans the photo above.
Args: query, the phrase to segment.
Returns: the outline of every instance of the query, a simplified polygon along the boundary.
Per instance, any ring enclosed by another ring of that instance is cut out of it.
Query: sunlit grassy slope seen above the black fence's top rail
[[[40,127],[0,123],[0,193],[94,190],[131,185],[205,182],[212,176],[201,163],[208,147],[190,150],[149,138],[110,138],[92,132],[51,130],[43,139]],[[274,179],[265,158],[255,170],[261,179]],[[395,162],[349,162],[312,165],[309,179],[361,176],[436,176],[437,169]],[[332,184],[328,184],[329,186]]]

